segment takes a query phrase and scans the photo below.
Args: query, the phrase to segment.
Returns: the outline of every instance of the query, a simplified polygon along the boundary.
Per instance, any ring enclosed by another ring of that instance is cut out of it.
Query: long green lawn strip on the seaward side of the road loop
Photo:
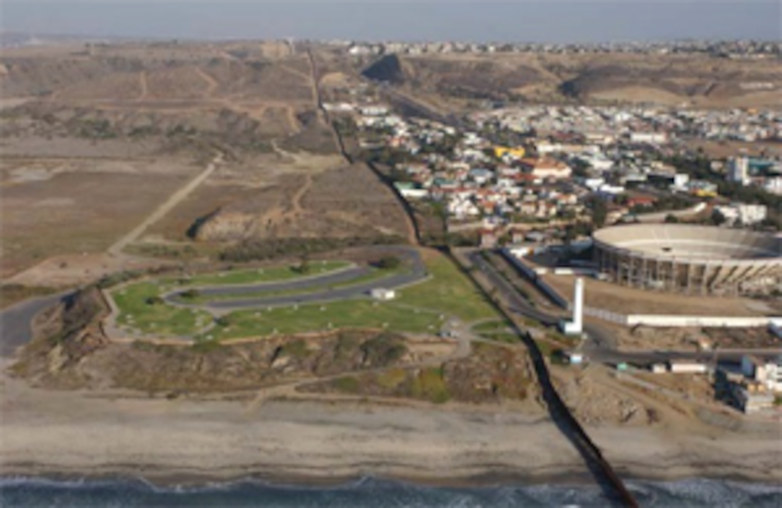
[[[322,310],[321,310],[322,309]],[[383,328],[409,333],[439,333],[442,320],[439,313],[416,313],[394,302],[375,303],[369,300],[281,307],[271,310],[246,310],[232,313],[228,326],[216,327],[200,338],[227,340],[264,337],[276,330],[279,334],[326,331],[332,328]]]

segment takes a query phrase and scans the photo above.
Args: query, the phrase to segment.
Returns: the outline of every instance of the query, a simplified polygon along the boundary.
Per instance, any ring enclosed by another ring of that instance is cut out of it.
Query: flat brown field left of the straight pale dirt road
[[[0,160],[0,277],[105,251],[199,170],[176,160]]]

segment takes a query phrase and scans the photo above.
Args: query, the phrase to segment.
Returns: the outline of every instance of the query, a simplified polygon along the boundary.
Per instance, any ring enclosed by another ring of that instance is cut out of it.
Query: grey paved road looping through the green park
[[[421,259],[421,255],[416,249],[412,249],[410,247],[378,247],[374,250],[376,250],[378,254],[387,254],[399,257],[404,261],[404,263],[407,264],[408,267],[410,267],[410,269],[402,274],[391,275],[382,280],[368,281],[346,288],[323,289],[321,291],[315,291],[304,295],[270,296],[267,298],[254,297],[244,300],[230,300],[222,302],[213,301],[204,305],[193,305],[192,307],[204,308],[212,310],[213,312],[222,313],[231,310],[260,309],[263,307],[292,306],[295,304],[304,303],[333,302],[336,300],[356,299],[367,296],[368,293],[375,288],[399,288],[400,286],[422,281],[428,276],[423,259]],[[201,294],[208,296],[271,291],[299,291],[311,287],[324,286],[329,284],[345,284],[368,273],[369,270],[367,268],[357,268],[354,270],[339,272],[337,274],[326,274],[323,277],[310,277],[304,281],[257,284],[254,286],[242,286],[241,288],[237,288],[235,286],[211,287],[201,290]],[[176,294],[167,296],[167,301],[177,305],[182,305],[181,301],[177,301],[175,299],[175,296]]]

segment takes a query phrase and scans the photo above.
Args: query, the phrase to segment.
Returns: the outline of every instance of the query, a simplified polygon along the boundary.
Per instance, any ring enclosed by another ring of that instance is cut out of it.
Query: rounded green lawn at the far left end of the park
[[[117,324],[127,331],[137,330],[142,334],[160,337],[181,337],[191,336],[211,323],[209,313],[148,302],[158,295],[160,286],[150,282],[132,284],[113,292],[114,301],[120,309]]]

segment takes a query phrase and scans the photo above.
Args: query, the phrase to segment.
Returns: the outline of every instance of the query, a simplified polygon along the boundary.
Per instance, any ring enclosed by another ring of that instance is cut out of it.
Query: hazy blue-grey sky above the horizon
[[[0,0],[0,30],[170,38],[782,39],[782,0]]]

